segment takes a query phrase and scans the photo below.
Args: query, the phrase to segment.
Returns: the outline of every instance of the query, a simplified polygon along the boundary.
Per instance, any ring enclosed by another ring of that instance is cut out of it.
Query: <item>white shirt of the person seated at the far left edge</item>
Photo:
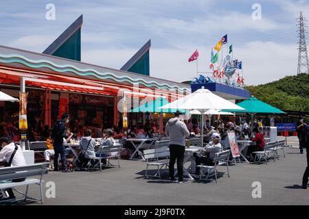
[[[0,151],[0,159],[5,159],[6,162],[10,162],[11,155],[15,149],[14,142],[4,146]],[[11,166],[25,166],[27,165],[25,162],[25,157],[23,157],[23,151],[21,151],[21,147],[18,146],[18,149],[12,159]]]

